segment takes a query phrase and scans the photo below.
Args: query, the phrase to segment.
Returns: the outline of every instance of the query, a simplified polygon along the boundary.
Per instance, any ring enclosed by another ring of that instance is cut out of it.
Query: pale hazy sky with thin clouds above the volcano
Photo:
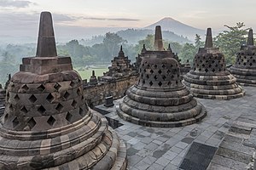
[[[172,17],[219,31],[244,22],[256,29],[256,0],[0,0],[0,35],[38,32],[41,11],[61,27],[144,27]],[[30,35],[29,35],[30,36]]]

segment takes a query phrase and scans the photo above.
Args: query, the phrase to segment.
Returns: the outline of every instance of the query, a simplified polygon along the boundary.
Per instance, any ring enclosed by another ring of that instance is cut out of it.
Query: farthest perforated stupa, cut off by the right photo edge
[[[236,54],[236,64],[229,71],[241,85],[256,87],[256,46],[253,43],[252,29],[248,33],[247,45],[241,46]]]

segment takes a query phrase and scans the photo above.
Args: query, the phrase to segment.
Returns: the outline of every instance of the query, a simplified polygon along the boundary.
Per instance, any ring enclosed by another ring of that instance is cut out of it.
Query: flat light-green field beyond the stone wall
[[[96,77],[100,77],[103,76],[103,72],[108,71],[108,68],[88,68],[88,69],[81,69],[81,68],[74,68],[75,71],[78,71],[80,76],[82,77],[82,79],[87,79],[87,81],[89,82],[90,76],[91,76],[91,72],[95,71],[95,75]],[[83,71],[81,71],[83,70]]]

